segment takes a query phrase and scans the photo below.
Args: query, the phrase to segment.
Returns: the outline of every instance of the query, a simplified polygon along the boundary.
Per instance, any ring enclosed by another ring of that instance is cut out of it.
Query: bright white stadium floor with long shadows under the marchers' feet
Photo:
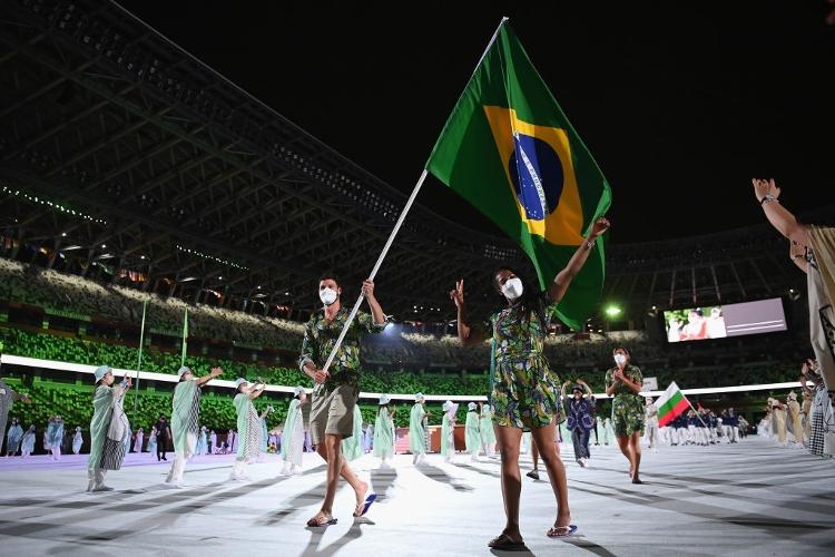
[[[523,478],[522,532],[532,555],[833,555],[835,462],[749,437],[739,444],[645,450],[633,486],[615,448],[592,447],[578,467],[563,446],[574,536],[549,539],[554,518],[547,475]],[[171,456],[169,455],[169,461]],[[167,466],[129,455],[110,472],[116,491],[86,494],[86,457],[0,458],[0,555],[489,555],[503,526],[498,460],[444,465],[438,455],[415,468],[397,456],[376,470],[355,462],[379,494],[353,519],[354,497],[340,488],[326,529],[305,527],[324,489],[324,465],[305,455],[302,475],[278,475],[268,456],[252,465],[253,481],[227,482],[232,458],[198,457],[183,490],[164,489]],[[522,457],[522,472],[530,457]],[[501,554],[494,551],[494,554]]]

